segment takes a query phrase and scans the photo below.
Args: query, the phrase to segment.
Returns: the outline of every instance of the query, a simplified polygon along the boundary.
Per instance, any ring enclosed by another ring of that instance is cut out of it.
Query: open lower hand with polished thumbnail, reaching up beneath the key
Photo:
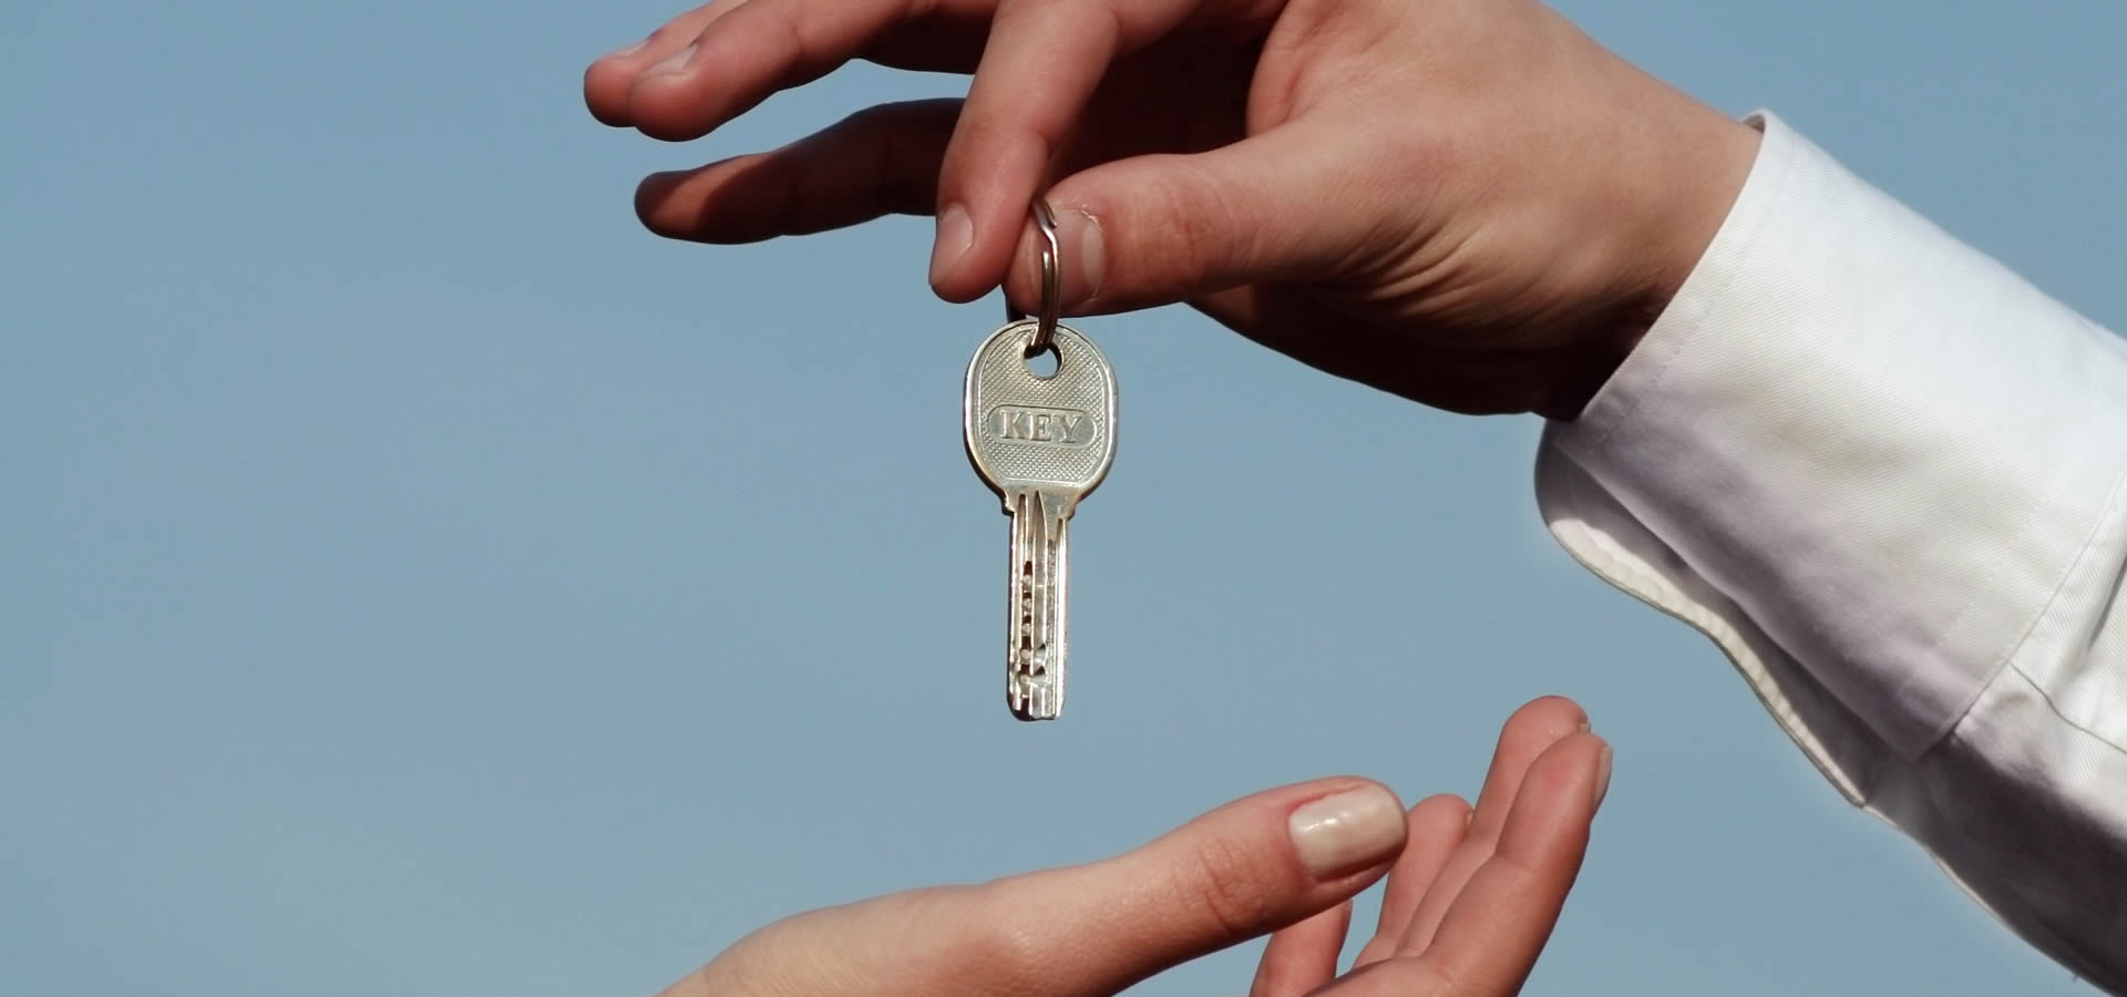
[[[1253,997],[1510,995],[1587,852],[1610,748],[1568,699],[1500,733],[1476,810],[1357,778],[1227,804],[1134,852],[770,925],[664,997],[1108,997],[1268,931]],[[1351,895],[1389,876],[1338,978]]]

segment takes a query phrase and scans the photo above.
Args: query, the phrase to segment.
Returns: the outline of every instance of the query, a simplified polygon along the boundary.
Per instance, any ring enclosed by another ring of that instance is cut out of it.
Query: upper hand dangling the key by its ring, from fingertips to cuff
[[[693,138],[847,60],[974,72],[791,147],[655,174],[666,236],[938,213],[932,285],[1066,312],[1191,302],[1340,376],[1463,412],[1578,415],[1712,240],[1757,132],[1534,0],[717,0],[585,74]]]

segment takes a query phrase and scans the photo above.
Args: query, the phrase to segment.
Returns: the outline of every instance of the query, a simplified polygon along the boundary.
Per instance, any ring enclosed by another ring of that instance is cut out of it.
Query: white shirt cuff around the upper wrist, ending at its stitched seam
[[[1914,757],[2095,531],[2127,351],[1759,121],[1697,270],[1544,449]]]

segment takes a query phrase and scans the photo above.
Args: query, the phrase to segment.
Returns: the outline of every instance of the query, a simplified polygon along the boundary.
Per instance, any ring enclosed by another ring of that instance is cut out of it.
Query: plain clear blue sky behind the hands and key
[[[2127,327],[2127,6],[1565,11]],[[1617,778],[1529,993],[2091,993],[1553,546],[1534,421],[1185,310],[1081,323],[1121,455],[1072,706],[1010,721],[955,408],[998,302],[929,295],[927,219],[708,249],[627,206],[961,83],[853,68],[685,149],[596,125],[583,64],[670,13],[0,9],[0,991],[647,995],[764,920],[1287,780],[1472,793],[1565,693]]]

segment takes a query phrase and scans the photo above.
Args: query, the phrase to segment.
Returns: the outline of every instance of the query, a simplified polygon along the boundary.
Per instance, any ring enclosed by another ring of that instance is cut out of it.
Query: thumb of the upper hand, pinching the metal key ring
[[[1206,153],[1115,159],[1057,181],[1046,200],[1061,310],[1153,308],[1349,264],[1397,208],[1355,140],[1351,130],[1287,123]],[[1029,315],[1040,308],[1040,251],[1029,223],[1004,283]]]

